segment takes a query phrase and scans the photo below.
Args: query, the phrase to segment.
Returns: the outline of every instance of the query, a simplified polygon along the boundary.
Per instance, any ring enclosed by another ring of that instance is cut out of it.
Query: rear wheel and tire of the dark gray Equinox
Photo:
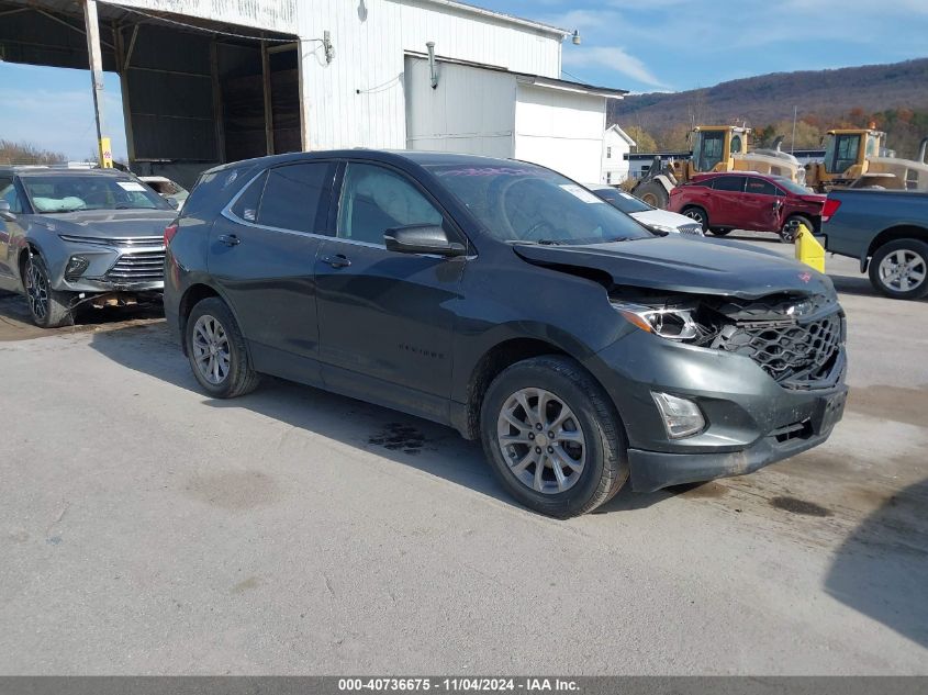
[[[251,368],[238,323],[221,299],[210,296],[193,306],[183,339],[193,377],[211,396],[235,399],[257,388],[260,374]]]

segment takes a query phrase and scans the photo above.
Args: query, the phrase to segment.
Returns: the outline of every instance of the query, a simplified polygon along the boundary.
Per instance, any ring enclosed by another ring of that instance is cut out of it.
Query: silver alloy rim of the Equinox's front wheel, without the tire
[[[505,400],[496,441],[516,480],[544,494],[570,490],[586,463],[586,440],[577,416],[544,389],[521,389]]]

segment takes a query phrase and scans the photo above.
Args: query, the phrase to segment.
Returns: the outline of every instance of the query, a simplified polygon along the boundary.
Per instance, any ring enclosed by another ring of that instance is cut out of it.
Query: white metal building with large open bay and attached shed
[[[605,102],[624,93],[559,79],[564,30],[456,0],[0,0],[0,16],[4,60],[87,67],[99,51],[130,159],[167,173],[409,146],[595,180]]]

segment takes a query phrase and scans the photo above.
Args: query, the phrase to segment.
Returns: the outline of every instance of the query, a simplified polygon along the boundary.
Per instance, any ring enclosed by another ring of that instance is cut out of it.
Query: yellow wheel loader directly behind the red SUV
[[[786,177],[805,184],[806,171],[798,159],[780,152],[778,138],[772,149],[748,152],[750,128],[737,125],[700,125],[689,134],[690,158],[661,162],[655,157],[648,172],[631,193],[655,208],[667,208],[670,190],[697,173],[709,171],[757,171]]]

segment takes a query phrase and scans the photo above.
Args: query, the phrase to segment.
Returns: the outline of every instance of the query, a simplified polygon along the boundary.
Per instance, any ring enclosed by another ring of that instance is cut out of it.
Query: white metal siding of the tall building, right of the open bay
[[[405,147],[404,54],[450,58],[558,77],[560,42],[527,27],[414,0],[316,0],[299,5],[299,35],[332,32],[335,59],[317,43],[302,44],[303,94],[311,149]]]

